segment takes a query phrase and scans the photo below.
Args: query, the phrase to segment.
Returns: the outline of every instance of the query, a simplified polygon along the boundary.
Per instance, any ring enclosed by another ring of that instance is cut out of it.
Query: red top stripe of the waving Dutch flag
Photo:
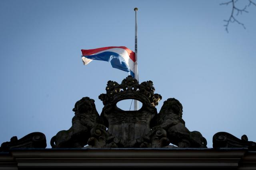
[[[127,47],[124,47],[124,46],[120,46],[120,47],[102,47],[102,48],[98,48],[98,49],[89,49],[89,50],[81,50],[82,51],[82,55],[86,56],[86,55],[92,55],[92,54],[95,54],[95,53],[98,53],[100,51],[104,51],[104,50],[107,50],[107,49],[113,49],[113,48],[120,48],[120,49],[125,49],[130,57],[130,59],[132,61],[135,62],[135,55],[134,55],[134,52],[130,49],[128,49]]]

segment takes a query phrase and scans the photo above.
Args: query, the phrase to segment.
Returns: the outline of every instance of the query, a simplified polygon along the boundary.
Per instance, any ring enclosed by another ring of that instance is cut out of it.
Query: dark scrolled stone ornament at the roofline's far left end
[[[0,151],[14,148],[46,148],[46,137],[40,132],[30,133],[21,139],[14,136],[10,139],[10,142],[2,143]]]

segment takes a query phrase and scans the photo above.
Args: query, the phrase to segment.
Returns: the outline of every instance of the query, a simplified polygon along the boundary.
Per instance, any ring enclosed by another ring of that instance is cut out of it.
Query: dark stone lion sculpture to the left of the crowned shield
[[[72,118],[72,127],[59,131],[51,139],[52,148],[81,148],[87,145],[90,130],[100,123],[94,100],[84,97],[76,102],[73,109],[75,116]]]

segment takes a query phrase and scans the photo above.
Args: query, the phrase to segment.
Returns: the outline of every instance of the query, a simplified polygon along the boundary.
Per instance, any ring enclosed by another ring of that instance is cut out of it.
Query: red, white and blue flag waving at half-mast
[[[113,68],[129,72],[134,77],[134,52],[127,47],[102,47],[98,49],[82,49],[82,61],[84,65],[92,60],[108,61]]]

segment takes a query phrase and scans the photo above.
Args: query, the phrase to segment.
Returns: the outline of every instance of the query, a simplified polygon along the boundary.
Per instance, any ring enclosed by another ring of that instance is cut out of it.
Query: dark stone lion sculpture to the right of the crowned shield
[[[166,100],[158,114],[158,125],[167,132],[170,142],[182,148],[205,148],[206,139],[198,131],[190,132],[182,119],[182,104],[175,98]]]

